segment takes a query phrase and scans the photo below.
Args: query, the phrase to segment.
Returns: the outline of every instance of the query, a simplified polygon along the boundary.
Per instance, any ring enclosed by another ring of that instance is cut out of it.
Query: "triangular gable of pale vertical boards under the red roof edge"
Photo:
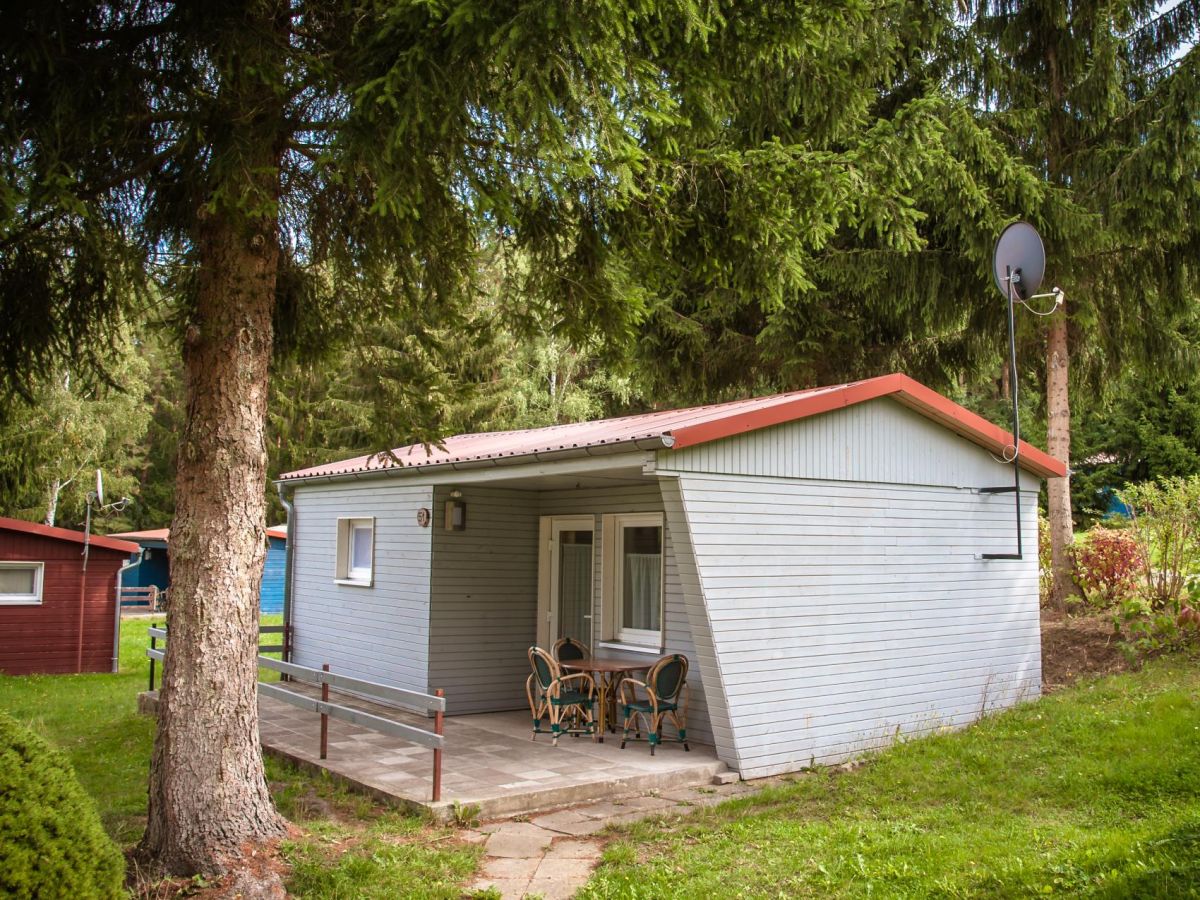
[[[1013,484],[1012,466],[887,397],[724,440],[659,450],[656,466],[660,473],[972,487]],[[1038,490],[1036,478],[1025,478],[1031,490]]]

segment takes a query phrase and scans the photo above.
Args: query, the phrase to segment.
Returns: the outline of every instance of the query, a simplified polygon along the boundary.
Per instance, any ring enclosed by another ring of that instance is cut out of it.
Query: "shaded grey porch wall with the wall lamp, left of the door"
[[[536,642],[538,494],[463,487],[467,528],[446,532],[449,490],[434,497],[430,686],[445,690],[451,714],[522,709]]]

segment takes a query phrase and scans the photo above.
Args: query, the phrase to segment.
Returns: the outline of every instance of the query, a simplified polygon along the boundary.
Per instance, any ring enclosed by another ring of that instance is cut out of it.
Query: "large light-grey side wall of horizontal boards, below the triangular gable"
[[[743,776],[1038,695],[1037,554],[978,558],[1014,548],[1010,494],[737,475],[678,491]],[[1031,541],[1036,509],[1025,494]]]

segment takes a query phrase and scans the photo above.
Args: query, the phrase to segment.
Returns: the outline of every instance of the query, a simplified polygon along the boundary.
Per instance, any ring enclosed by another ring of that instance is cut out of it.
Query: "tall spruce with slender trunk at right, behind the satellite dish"
[[[1073,215],[1025,211],[1066,290],[1045,330],[1049,451],[1070,462],[1070,366],[1169,366],[1200,266],[1200,2],[972,4],[956,85]],[[1072,348],[1075,348],[1074,350]],[[1082,380],[1076,377],[1076,382]],[[1054,599],[1074,588],[1069,478],[1050,479]]]

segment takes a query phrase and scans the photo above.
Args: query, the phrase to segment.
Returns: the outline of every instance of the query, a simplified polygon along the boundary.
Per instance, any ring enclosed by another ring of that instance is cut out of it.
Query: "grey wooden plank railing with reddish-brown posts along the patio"
[[[166,656],[164,648],[160,647],[157,642],[167,640],[167,629],[158,628],[156,623],[149,629],[149,634],[150,647],[146,649],[146,656],[150,658],[150,690],[154,690],[155,662],[162,661]],[[330,718],[358,725],[362,728],[370,728],[380,734],[390,734],[433,751],[433,802],[436,803],[442,799],[442,751],[445,749],[443,727],[446,709],[445,694],[442,690],[433,694],[422,694],[421,691],[410,691],[390,684],[379,684],[377,682],[367,682],[362,678],[352,678],[338,672],[330,672],[328,664],[320,668],[312,668],[310,666],[299,666],[295,662],[263,656],[263,653],[286,653],[290,637],[286,625],[265,625],[259,629],[259,635],[264,634],[282,634],[283,641],[278,644],[259,646],[259,667],[278,672],[281,679],[310,682],[320,685],[320,700],[289,690],[280,684],[266,684],[264,682],[258,683],[258,695],[260,697],[278,700],[320,715],[319,754],[322,760],[329,755]],[[433,730],[427,731],[415,725],[394,721],[392,719],[368,713],[364,709],[343,703],[334,703],[329,698],[330,689],[355,694],[366,700],[413,713],[433,713]]]

